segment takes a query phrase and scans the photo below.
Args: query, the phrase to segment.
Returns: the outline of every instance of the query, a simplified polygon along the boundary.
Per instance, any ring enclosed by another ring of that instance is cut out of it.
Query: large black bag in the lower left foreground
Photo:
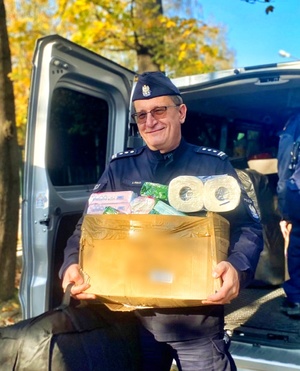
[[[70,290],[58,308],[0,328],[0,370],[141,370],[135,315],[71,306]]]

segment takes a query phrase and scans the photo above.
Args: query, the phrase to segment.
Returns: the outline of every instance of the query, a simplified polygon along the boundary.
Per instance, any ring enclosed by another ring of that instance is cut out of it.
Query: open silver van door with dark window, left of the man
[[[61,300],[66,240],[110,156],[126,148],[133,77],[60,36],[37,41],[22,203],[25,318]]]

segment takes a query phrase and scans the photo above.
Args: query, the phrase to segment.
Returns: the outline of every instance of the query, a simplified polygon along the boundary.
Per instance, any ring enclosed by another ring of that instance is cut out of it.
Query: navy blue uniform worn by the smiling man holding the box
[[[131,190],[139,194],[144,182],[168,185],[173,178],[181,175],[208,176],[219,174],[232,175],[238,179],[225,153],[206,147],[194,146],[181,140],[179,147],[167,154],[161,154],[159,151],[152,151],[148,147],[142,147],[113,156],[109,166],[95,186],[95,192]],[[223,213],[222,216],[230,222],[231,233],[228,261],[239,272],[241,287],[244,287],[254,276],[259,255],[263,248],[259,218],[252,201],[244,190],[242,190],[239,206],[231,212]],[[81,220],[74,235],[68,241],[61,272],[70,264],[78,263],[80,228]],[[213,348],[214,351],[217,349],[217,352],[225,354],[224,357],[228,356],[230,358],[223,341],[223,309],[222,305],[209,305],[195,308],[136,311],[136,315],[142,324],[141,331],[145,349],[151,349],[151,344],[159,341],[164,342],[164,347],[167,346],[166,344],[168,346],[172,344],[172,350],[176,349],[176,352],[179,354],[179,344],[184,341],[186,345],[190,344],[191,351],[187,358],[191,358],[195,347],[198,349],[201,345],[202,349],[204,349],[203,343],[210,339],[208,345],[210,348]],[[168,358],[167,349],[163,348],[159,352],[158,348],[155,348],[153,354],[158,358],[159,354]],[[189,353],[189,351],[187,352]],[[209,362],[213,362],[211,353],[208,353]],[[152,357],[152,360],[153,354],[149,355],[150,358]],[[173,356],[176,357],[174,354]],[[180,356],[182,359],[183,356]],[[152,370],[163,370],[164,368],[161,365],[165,361],[165,369],[167,370],[169,367],[168,360],[162,361],[161,359],[157,360],[156,366],[155,364],[153,366],[152,363]],[[195,363],[191,362],[191,368],[186,364],[185,370],[196,369]],[[220,368],[217,365],[212,367],[211,364],[208,364],[207,368],[205,368],[204,364],[202,364],[199,370],[234,369],[232,364],[230,366],[230,360],[226,362],[228,363],[227,368],[225,366]],[[145,369],[147,369],[146,366]]]

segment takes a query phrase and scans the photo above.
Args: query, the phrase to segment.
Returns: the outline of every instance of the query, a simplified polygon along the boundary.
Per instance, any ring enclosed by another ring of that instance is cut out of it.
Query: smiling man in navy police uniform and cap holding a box
[[[95,187],[95,192],[131,190],[139,193],[144,182],[168,185],[180,175],[228,174],[237,178],[221,151],[191,145],[181,136],[187,107],[180,91],[161,72],[139,76],[133,93],[135,119],[146,146],[113,156]],[[200,102],[199,102],[200,103]],[[140,327],[143,370],[169,371],[172,359],[180,370],[236,370],[224,336],[224,306],[253,278],[263,247],[259,218],[242,190],[241,202],[222,214],[230,222],[227,261],[213,273],[222,279],[221,289],[203,306],[193,308],[136,310]],[[68,240],[61,268],[63,287],[78,299],[94,298],[79,272],[78,251],[81,220]],[[188,248],[188,246],[187,246]]]

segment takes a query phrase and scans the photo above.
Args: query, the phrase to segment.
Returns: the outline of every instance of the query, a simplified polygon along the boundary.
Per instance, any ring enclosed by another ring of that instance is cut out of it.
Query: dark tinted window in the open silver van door
[[[105,167],[108,104],[67,88],[53,92],[47,169],[54,186],[95,184]]]

